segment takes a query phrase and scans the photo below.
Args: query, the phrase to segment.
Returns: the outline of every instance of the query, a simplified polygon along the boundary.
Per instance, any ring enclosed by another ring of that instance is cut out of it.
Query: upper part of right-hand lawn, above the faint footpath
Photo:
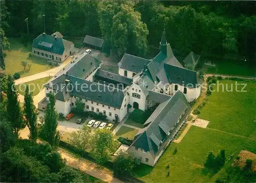
[[[235,90],[236,81],[221,80],[220,83],[224,86],[231,88],[233,84],[233,90]],[[235,133],[243,136],[251,135],[251,138],[256,139],[256,81],[239,81],[239,84],[247,84],[247,92],[212,92],[207,97],[208,102],[201,110],[200,119],[209,120],[210,123],[207,127],[223,130],[230,133]],[[241,89],[241,85],[238,86],[238,90]],[[214,87],[216,89],[216,87]]]

